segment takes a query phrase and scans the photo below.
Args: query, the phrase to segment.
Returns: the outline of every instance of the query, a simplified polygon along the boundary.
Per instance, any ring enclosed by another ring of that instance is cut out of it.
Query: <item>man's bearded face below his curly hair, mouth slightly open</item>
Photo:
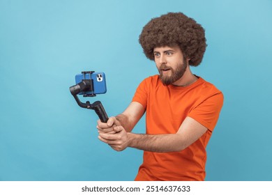
[[[186,72],[187,61],[178,46],[155,47],[153,53],[164,85],[174,84],[181,79]]]

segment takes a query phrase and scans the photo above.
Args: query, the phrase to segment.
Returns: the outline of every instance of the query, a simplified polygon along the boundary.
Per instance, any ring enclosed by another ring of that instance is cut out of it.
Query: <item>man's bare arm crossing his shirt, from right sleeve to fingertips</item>
[[[100,132],[99,139],[121,151],[127,147],[138,148],[155,153],[181,151],[197,141],[207,128],[193,118],[187,117],[176,134],[133,134],[126,132],[122,126],[114,127],[116,134]]]

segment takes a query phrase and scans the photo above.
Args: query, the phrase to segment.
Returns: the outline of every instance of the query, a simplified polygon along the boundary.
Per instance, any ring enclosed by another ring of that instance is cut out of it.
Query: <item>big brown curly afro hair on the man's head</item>
[[[178,45],[192,66],[201,63],[207,46],[202,26],[183,13],[167,13],[150,20],[142,29],[139,43],[153,61],[154,47]]]

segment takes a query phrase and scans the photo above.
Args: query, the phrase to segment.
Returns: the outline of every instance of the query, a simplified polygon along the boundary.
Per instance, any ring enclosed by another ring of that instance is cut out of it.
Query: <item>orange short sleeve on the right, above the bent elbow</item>
[[[208,130],[213,131],[222,109],[224,96],[218,92],[201,102],[197,107],[193,108],[188,116],[197,120]]]

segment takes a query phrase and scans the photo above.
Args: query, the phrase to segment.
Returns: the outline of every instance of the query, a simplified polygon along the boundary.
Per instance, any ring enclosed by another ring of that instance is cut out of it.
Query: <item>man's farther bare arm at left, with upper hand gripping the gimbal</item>
[[[98,120],[97,128],[100,132],[115,133],[113,127],[121,125],[127,132],[131,132],[139,119],[144,115],[144,107],[138,102],[131,102],[128,108],[115,117],[110,117],[107,123]]]

